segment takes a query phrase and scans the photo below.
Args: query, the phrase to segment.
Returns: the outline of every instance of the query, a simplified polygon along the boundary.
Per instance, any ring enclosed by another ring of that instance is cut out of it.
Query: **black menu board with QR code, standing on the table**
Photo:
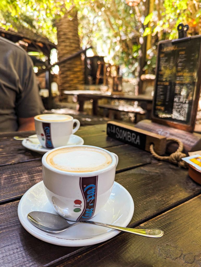
[[[158,44],[152,120],[193,131],[200,96],[201,36]]]

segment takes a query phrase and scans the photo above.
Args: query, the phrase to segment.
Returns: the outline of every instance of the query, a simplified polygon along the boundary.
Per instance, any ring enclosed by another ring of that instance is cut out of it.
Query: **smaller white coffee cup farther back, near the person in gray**
[[[41,114],[34,117],[36,134],[43,147],[66,146],[71,134],[80,128],[80,122],[64,114]],[[76,127],[73,129],[73,124]]]

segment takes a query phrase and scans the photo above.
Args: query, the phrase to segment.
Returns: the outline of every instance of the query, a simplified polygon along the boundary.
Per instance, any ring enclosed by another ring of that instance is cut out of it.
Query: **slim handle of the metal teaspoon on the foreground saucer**
[[[146,236],[146,237],[161,237],[161,236],[163,236],[163,231],[160,229],[135,229],[135,228],[127,228],[127,227],[115,226],[115,225],[111,225],[111,224],[107,224],[107,223],[92,222],[92,221],[82,221],[82,223],[95,224],[95,225],[99,225],[99,226],[104,226],[104,227],[120,230],[123,232],[128,232],[131,234]]]

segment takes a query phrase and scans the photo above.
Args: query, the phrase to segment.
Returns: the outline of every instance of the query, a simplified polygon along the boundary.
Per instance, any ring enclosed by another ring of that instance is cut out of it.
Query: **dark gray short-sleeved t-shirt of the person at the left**
[[[18,118],[41,114],[33,63],[24,49],[0,37],[0,132],[17,131]]]

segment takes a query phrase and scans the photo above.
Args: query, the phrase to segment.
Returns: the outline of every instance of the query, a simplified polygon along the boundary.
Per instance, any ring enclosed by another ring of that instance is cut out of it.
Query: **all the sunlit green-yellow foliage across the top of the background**
[[[125,0],[1,0],[0,26],[17,30],[20,25],[56,42],[55,20],[76,8],[82,47],[92,45],[94,54],[106,56],[111,64],[124,64],[130,72],[134,73],[138,65],[140,38],[151,36],[144,67],[151,73],[157,42],[177,38],[180,22],[190,26],[190,34],[201,34],[201,2],[157,0],[148,14],[147,1],[132,8]]]

